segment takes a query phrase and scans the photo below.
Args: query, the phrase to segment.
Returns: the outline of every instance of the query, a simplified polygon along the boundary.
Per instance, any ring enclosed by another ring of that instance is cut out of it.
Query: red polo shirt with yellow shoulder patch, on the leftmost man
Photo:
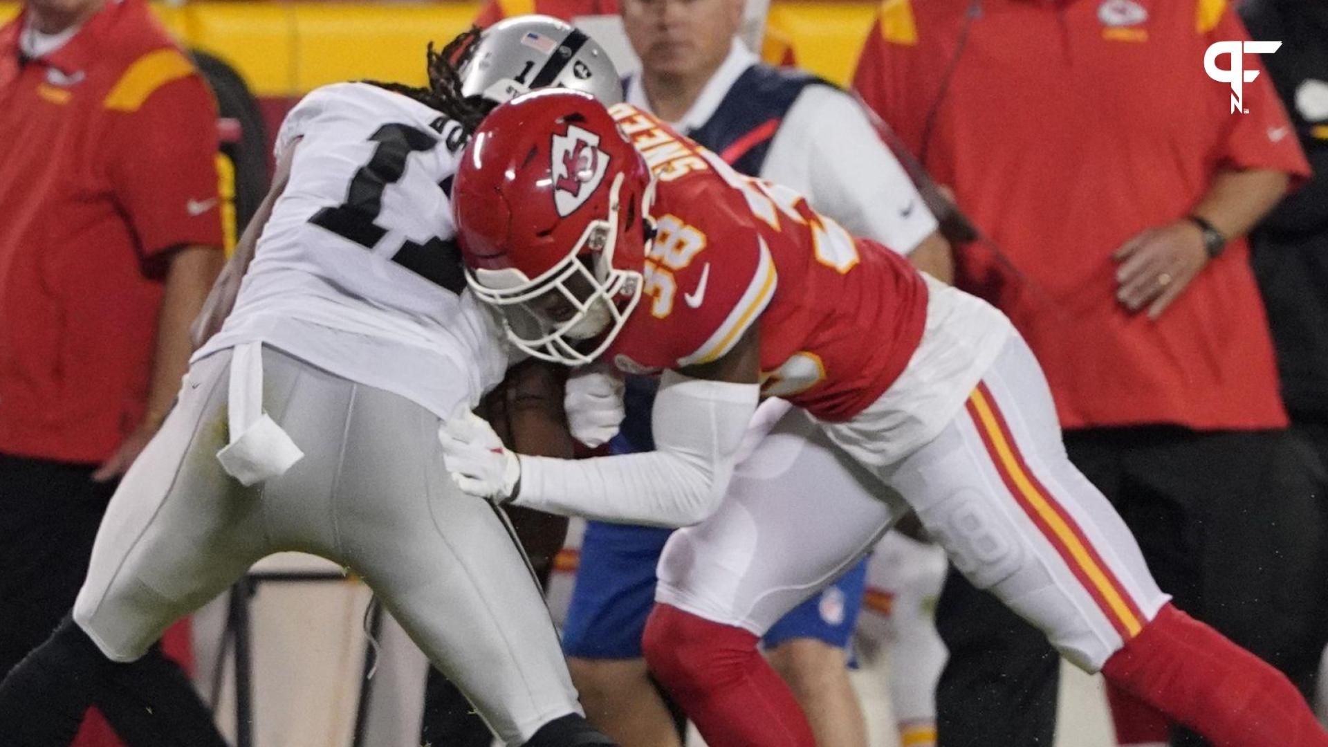
[[[0,28],[0,452],[110,456],[142,419],[163,255],[222,245],[216,108],[143,0],[20,61]]]

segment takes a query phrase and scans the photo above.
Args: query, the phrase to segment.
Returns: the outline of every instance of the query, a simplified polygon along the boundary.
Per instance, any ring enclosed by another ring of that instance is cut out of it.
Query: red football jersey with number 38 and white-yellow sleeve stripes
[[[890,388],[927,316],[907,259],[631,105],[611,113],[659,178],[645,290],[610,350],[620,368],[710,363],[760,324],[765,396],[847,420]]]

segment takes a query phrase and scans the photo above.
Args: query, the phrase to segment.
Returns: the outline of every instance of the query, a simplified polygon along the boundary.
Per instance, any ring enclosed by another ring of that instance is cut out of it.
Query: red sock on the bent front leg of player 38
[[[660,685],[716,747],[815,747],[811,726],[757,637],[655,605],[641,645]]]

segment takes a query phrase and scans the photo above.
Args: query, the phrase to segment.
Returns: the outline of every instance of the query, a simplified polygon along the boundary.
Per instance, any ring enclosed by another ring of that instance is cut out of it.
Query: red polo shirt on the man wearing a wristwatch
[[[959,284],[1013,319],[1068,428],[1283,425],[1244,239],[1157,322],[1116,300],[1112,253],[1186,215],[1219,170],[1308,173],[1267,73],[1244,84],[1248,114],[1204,73],[1210,44],[1247,39],[1235,12],[1214,0],[972,5],[886,0],[854,81],[1008,257],[963,247]],[[1244,64],[1262,70],[1255,54]]]

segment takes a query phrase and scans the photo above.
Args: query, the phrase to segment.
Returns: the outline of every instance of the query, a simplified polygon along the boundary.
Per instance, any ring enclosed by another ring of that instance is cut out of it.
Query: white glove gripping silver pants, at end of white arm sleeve
[[[517,496],[521,460],[502,445],[494,429],[473,412],[438,427],[442,459],[457,485],[502,505]]]

